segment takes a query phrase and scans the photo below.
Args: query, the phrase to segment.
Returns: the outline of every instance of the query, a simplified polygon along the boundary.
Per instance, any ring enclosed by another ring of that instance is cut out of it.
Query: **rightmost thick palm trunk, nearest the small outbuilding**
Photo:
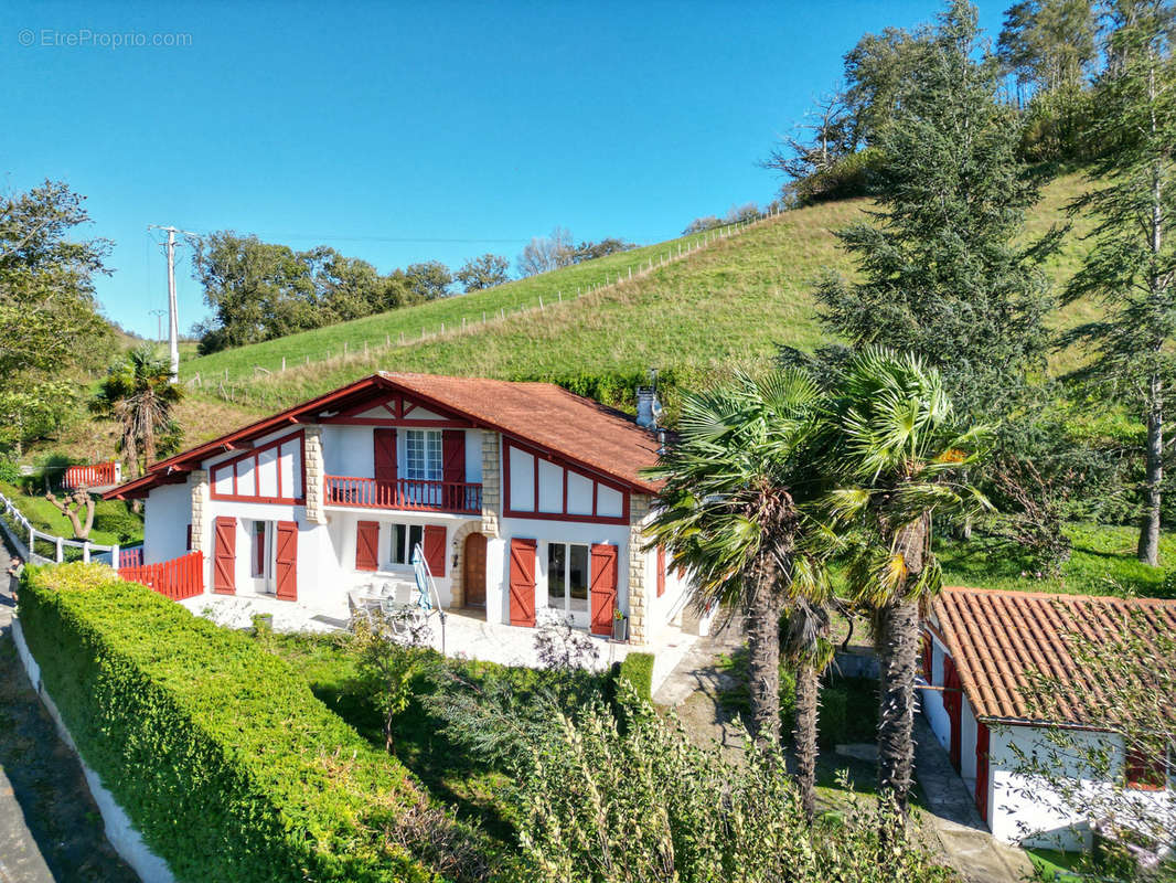
[[[878,690],[878,790],[907,814],[915,768],[915,675],[918,604],[900,602],[880,611],[882,671]]]

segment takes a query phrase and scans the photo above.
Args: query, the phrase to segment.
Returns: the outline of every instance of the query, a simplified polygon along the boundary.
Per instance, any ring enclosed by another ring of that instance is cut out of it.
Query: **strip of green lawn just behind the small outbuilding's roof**
[[[1167,597],[1164,578],[1176,566],[1176,535],[1161,535],[1161,566],[1149,567],[1135,558],[1140,537],[1136,527],[1070,524],[1065,532],[1074,551],[1058,578],[1038,578],[1029,562],[1010,556],[983,537],[970,543],[941,538],[935,551],[943,565],[943,582],[980,589]]]

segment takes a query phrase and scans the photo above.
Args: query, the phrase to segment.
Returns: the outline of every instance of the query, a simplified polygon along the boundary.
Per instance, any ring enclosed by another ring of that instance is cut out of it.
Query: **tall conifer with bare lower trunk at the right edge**
[[[1128,8],[1129,7],[1129,8]],[[1067,303],[1093,297],[1103,316],[1065,343],[1094,347],[1083,376],[1138,407],[1147,424],[1144,506],[1137,557],[1156,566],[1163,482],[1164,417],[1176,379],[1176,65],[1172,9],[1163,0],[1121,4],[1109,38],[1117,61],[1096,85],[1102,112],[1093,137],[1102,146],[1071,210],[1096,219],[1094,247],[1065,291]]]

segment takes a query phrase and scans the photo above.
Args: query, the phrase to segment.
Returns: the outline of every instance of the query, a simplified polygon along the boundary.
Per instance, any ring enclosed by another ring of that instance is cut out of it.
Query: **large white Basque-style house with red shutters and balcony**
[[[410,580],[492,623],[544,613],[647,644],[687,583],[643,529],[655,436],[552,384],[381,372],[153,464],[143,562],[199,550],[206,592],[347,616],[356,587]]]

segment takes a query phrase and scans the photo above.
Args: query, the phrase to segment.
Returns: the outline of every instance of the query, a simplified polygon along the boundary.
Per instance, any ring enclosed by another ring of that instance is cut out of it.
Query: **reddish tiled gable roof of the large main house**
[[[620,479],[634,490],[646,493],[657,491],[659,483],[641,474],[642,470],[657,463],[657,442],[620,411],[554,384],[382,371],[154,463],[147,474],[105,496],[142,496],[160,484],[182,479],[187,472],[199,467],[201,460],[233,450],[238,443],[283,426],[315,423],[320,412],[339,412],[367,399],[387,397],[393,391],[409,393],[441,410],[461,414],[474,425],[529,442],[572,463]]]

